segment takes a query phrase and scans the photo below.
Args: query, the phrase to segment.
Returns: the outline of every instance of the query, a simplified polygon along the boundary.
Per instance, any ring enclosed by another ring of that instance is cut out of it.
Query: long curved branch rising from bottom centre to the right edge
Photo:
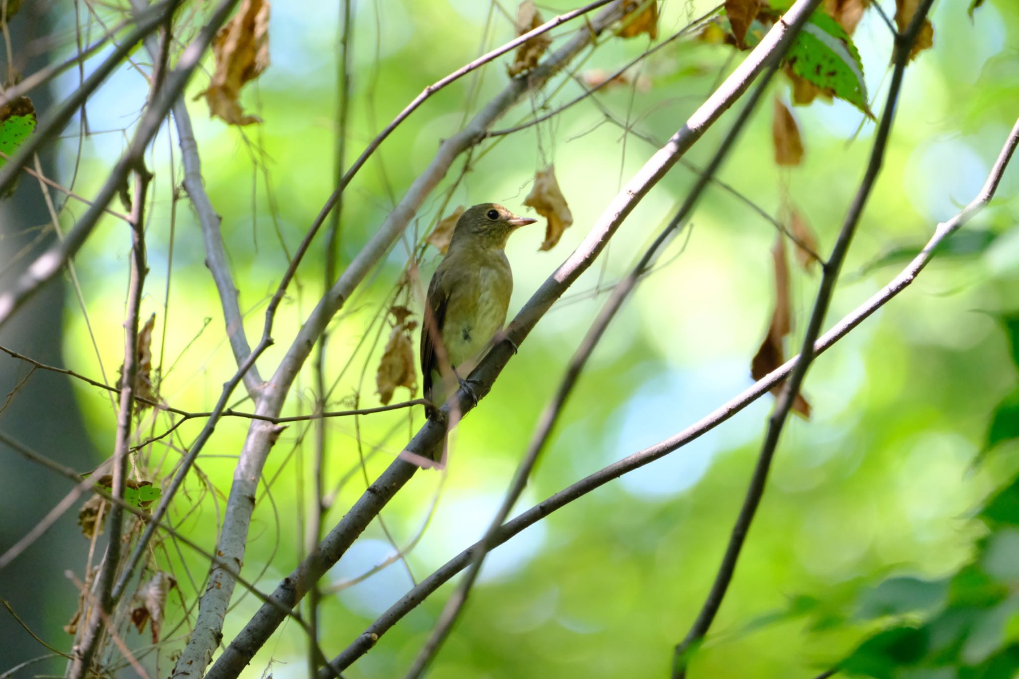
[[[851,314],[842,319],[833,328],[820,337],[814,344],[813,352],[819,355],[829,349],[836,342],[848,335],[850,331],[859,326],[869,318],[874,312],[879,309],[893,297],[905,290],[916,280],[916,277],[927,266],[933,258],[937,248],[945,240],[962,228],[970,219],[978,214],[994,196],[998,184],[1005,173],[1005,169],[1019,146],[1019,120],[1016,121],[1009,134],[1008,140],[999,154],[998,161],[987,176],[980,192],[973,201],[966,206],[958,215],[947,222],[938,224],[934,229],[934,234],[912,262],[888,285],[872,295],[865,302],[860,304]],[[555,495],[543,500],[516,518],[504,523],[496,532],[493,540],[493,547],[508,542],[512,537],[522,532],[525,528],[534,525],[544,519],[552,512],[566,507],[570,503],[584,497],[588,493],[601,488],[610,480],[629,473],[635,469],[654,462],[665,455],[683,448],[688,443],[700,436],[710,432],[729,418],[742,411],[758,398],[767,394],[775,385],[782,384],[783,380],[789,377],[790,373],[797,365],[800,357],[794,356],[786,363],[775,369],[772,373],[758,380],[750,388],[743,391],[733,399],[723,403],[708,415],[702,417],[679,434],[665,439],[653,446],[629,455],[612,464],[599,469],[598,471],[582,478],[576,484],[566,488]],[[385,634],[400,619],[415,608],[420,606],[432,592],[448,582],[457,573],[471,565],[474,554],[481,549],[483,542],[478,541],[467,548],[445,564],[436,569],[431,575],[422,580],[416,587],[407,592],[399,601],[389,607],[375,622],[373,622],[357,639],[354,640],[342,653],[333,660],[333,667],[343,670],[354,664],[361,656],[378,641],[379,637]],[[319,671],[319,679],[328,679],[330,676],[325,669]]]

